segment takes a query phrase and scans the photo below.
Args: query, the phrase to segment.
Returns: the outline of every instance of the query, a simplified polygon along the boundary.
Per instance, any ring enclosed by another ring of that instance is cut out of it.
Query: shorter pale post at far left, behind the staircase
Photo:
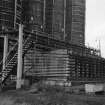
[[[3,51],[3,69],[6,66],[6,57],[8,53],[8,35],[4,36],[4,51]]]

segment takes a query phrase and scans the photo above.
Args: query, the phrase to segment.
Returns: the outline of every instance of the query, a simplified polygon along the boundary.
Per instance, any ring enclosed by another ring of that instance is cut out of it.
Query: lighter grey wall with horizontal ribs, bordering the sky
[[[85,0],[72,1],[72,33],[76,38],[72,38],[77,44],[84,44],[85,34]]]

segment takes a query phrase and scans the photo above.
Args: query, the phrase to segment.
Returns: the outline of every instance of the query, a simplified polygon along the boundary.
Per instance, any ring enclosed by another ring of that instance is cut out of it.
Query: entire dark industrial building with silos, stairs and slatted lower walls
[[[1,0],[1,85],[22,79],[104,82],[105,59],[85,46],[85,0]],[[3,60],[2,60],[3,59]]]

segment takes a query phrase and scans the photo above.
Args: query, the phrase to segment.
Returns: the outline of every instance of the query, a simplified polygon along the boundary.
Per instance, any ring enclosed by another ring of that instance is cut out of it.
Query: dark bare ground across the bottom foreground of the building
[[[11,90],[0,93],[0,105],[105,105],[105,95]]]

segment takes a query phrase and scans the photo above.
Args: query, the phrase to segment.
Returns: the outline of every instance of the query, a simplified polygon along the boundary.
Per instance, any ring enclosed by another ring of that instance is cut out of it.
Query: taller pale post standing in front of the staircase
[[[23,49],[23,26],[19,25],[19,40],[18,40],[18,65],[17,65],[17,83],[16,83],[16,89],[21,88],[21,79],[22,79],[22,49]]]

